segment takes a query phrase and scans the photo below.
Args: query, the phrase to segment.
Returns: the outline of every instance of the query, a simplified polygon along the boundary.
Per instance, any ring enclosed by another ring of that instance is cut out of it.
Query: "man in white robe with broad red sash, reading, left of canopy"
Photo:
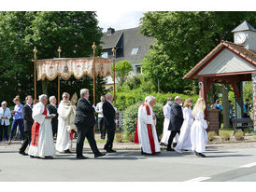
[[[34,125],[31,130],[31,144],[28,155],[31,158],[52,159],[55,156],[55,148],[51,130],[50,113],[46,107],[48,97],[46,94],[39,96],[39,103],[33,107],[32,117]]]

